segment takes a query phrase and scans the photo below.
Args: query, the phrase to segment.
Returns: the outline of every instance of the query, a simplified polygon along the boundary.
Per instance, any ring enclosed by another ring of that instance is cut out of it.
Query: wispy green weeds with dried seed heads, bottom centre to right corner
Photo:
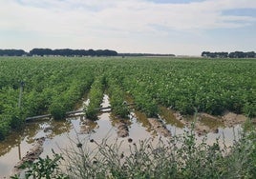
[[[64,151],[72,178],[255,178],[256,132],[244,131],[234,146],[226,147],[219,139],[213,145],[197,141],[193,130],[171,140],[151,139],[131,144],[129,152],[122,143],[97,143],[87,149]],[[85,146],[85,147],[83,147]]]

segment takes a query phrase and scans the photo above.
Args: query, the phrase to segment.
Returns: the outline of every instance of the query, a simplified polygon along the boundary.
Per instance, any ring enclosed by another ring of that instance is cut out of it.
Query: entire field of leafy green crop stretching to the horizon
[[[124,117],[126,95],[147,116],[159,105],[192,114],[224,110],[256,116],[255,59],[1,58],[0,139],[29,116],[74,109],[89,91],[88,117],[95,118],[103,92],[113,112]],[[20,82],[25,82],[18,108]]]

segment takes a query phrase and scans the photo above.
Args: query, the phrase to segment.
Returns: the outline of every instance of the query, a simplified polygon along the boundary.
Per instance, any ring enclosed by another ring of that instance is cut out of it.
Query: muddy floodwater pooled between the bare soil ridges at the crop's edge
[[[88,101],[86,101],[88,103]],[[108,96],[104,95],[102,107],[110,106]],[[172,113],[165,110],[165,119],[163,123],[169,129],[172,135],[182,134],[187,129],[181,121],[175,119]],[[203,118],[202,123],[207,125],[207,119]],[[209,128],[218,128],[218,133],[209,132],[207,134],[207,142],[213,143],[216,138],[223,138],[227,144],[232,144],[234,133],[237,135],[240,126],[235,128],[224,128],[222,124],[212,122],[208,124]],[[26,155],[27,151],[32,149],[32,143],[35,138],[46,137],[43,148],[44,151],[40,155],[46,157],[52,155],[52,149],[60,152],[61,149],[75,148],[76,144],[82,143],[91,148],[88,141],[94,139],[100,143],[102,139],[107,139],[109,143],[123,141],[122,149],[128,150],[128,139],[133,139],[133,143],[138,143],[141,139],[149,137],[158,139],[159,135],[152,130],[146,116],[139,112],[133,111],[130,115],[130,123],[128,124],[129,136],[117,139],[117,128],[115,127],[115,119],[111,116],[110,111],[99,114],[96,122],[88,122],[83,116],[70,117],[63,121],[54,120],[37,120],[27,124],[26,129],[20,132],[13,132],[6,141],[0,142],[0,178],[8,177],[13,171],[13,167],[19,162],[20,158]],[[198,137],[202,139],[202,137]],[[79,142],[78,142],[79,141]]]

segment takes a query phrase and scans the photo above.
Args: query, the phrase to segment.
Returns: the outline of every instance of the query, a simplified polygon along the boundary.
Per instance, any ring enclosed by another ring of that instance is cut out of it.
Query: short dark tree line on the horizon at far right
[[[256,58],[254,51],[234,51],[234,52],[210,52],[203,51],[201,56],[210,58]]]

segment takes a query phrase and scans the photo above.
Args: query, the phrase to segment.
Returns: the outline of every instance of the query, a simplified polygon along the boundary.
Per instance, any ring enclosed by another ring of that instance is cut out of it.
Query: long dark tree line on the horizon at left
[[[0,50],[0,56],[117,56],[116,50],[71,50],[32,49]]]

